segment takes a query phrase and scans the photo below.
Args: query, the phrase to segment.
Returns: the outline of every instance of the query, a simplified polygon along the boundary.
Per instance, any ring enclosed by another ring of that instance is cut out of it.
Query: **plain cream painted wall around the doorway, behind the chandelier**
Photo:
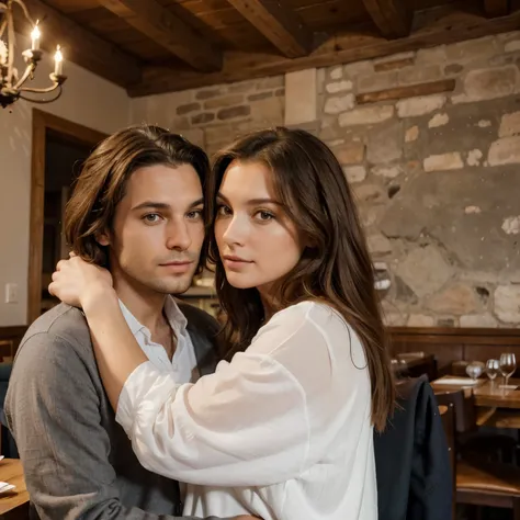
[[[44,86],[50,71],[52,64],[42,63],[35,86]],[[33,108],[105,133],[129,122],[131,100],[123,89],[69,61],[64,72],[68,80],[58,101],[36,105],[20,100],[12,113],[0,109],[0,327],[27,324]],[[4,303],[7,283],[18,284],[15,304]]]

